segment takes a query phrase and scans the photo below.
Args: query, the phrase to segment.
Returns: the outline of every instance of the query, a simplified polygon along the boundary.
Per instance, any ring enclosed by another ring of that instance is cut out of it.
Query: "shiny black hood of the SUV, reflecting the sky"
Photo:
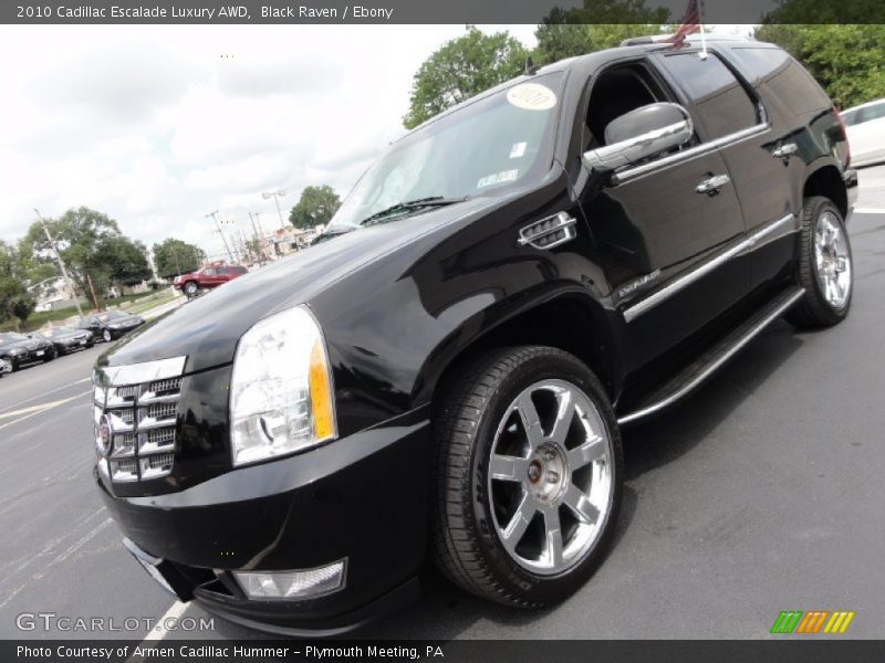
[[[240,336],[258,320],[310,304],[347,277],[358,277],[366,265],[421,238],[445,234],[448,228],[460,227],[459,222],[469,222],[500,202],[502,198],[471,199],[321,241],[145,325],[108,350],[100,364],[121,366],[187,356],[187,372],[228,364]]]

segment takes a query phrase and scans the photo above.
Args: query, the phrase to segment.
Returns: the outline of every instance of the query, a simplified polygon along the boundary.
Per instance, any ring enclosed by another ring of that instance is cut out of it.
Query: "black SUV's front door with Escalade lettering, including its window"
[[[612,119],[654,102],[685,105],[646,60],[597,74],[587,147],[604,144]],[[663,355],[747,293],[746,265],[733,260],[743,240],[738,199],[722,155],[706,138],[698,130],[681,150],[622,169],[581,193],[624,315],[632,368]],[[722,183],[708,188],[711,181]]]

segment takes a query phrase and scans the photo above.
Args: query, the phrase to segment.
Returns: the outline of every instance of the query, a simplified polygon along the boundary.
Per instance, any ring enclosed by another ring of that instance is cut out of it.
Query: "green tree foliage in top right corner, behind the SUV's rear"
[[[842,108],[885,96],[885,25],[763,24],[756,39],[799,60]]]

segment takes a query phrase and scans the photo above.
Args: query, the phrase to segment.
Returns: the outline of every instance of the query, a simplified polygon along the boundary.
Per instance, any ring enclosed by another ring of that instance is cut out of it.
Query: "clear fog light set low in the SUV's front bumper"
[[[306,599],[344,587],[345,560],[315,569],[292,571],[233,571],[250,599]]]

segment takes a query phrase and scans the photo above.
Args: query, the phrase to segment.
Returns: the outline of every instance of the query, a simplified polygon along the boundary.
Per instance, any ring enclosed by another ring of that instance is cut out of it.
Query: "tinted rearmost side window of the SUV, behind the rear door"
[[[787,51],[736,46],[731,55],[752,85],[764,84],[793,113],[804,115],[833,106],[818,82]]]

